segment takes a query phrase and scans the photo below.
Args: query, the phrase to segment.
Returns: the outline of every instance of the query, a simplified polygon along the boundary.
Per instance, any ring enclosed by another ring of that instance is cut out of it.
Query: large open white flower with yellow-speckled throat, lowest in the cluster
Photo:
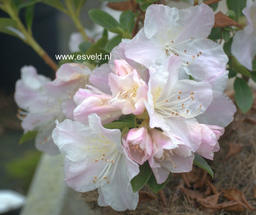
[[[138,192],[133,192],[130,180],[139,168],[123,149],[120,130],[104,128],[99,116],[92,114],[89,126],[68,119],[57,123],[52,137],[66,157],[69,187],[79,192],[98,188],[100,206],[107,204],[117,211],[136,208]]]

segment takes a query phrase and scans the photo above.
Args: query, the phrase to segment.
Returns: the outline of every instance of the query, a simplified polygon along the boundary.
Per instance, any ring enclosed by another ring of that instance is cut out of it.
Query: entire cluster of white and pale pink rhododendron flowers
[[[53,81],[22,69],[15,94],[26,111],[22,126],[38,131],[39,150],[57,147],[65,156],[69,187],[97,188],[100,206],[134,210],[133,178],[141,179],[145,165],[162,184],[170,172],[191,171],[195,156],[213,160],[236,111],[223,93],[228,58],[206,39],[213,25],[205,4],[154,4],[144,27],[123,39],[107,64],[92,71],[64,64]]]

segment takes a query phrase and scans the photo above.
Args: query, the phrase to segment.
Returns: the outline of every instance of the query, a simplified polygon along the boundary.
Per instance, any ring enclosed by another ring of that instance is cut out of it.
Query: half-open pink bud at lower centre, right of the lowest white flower
[[[131,129],[122,142],[131,160],[137,164],[144,164],[152,154],[152,141],[146,127]]]

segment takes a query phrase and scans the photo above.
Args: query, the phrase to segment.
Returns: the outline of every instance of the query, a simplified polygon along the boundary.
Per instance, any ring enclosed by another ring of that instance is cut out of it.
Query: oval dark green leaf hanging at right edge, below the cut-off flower
[[[245,114],[252,107],[252,91],[246,81],[242,78],[236,78],[234,82],[235,101],[240,110]]]

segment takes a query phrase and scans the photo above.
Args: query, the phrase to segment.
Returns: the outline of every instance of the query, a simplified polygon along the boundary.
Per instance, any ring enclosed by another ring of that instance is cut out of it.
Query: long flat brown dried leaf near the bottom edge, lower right
[[[241,204],[239,204],[237,201],[227,201],[224,203],[214,204],[214,205],[201,202],[201,205],[206,208],[218,209],[218,210],[224,209],[225,211],[238,211],[238,212],[245,211],[244,207],[241,206]]]

